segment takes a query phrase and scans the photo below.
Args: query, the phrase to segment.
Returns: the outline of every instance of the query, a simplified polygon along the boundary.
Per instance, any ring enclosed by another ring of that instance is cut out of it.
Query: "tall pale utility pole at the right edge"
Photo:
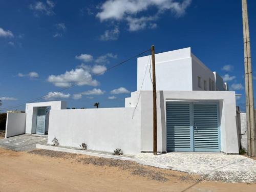
[[[256,155],[254,97],[251,70],[250,34],[247,12],[247,0],[242,0],[243,33],[244,33],[244,68],[245,68],[245,94],[246,94],[246,121],[247,121],[247,154]]]

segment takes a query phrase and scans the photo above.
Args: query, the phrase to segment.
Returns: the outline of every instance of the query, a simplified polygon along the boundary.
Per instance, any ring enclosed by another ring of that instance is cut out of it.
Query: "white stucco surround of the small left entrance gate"
[[[49,102],[36,102],[36,103],[26,103],[26,133],[34,134],[36,133],[36,116],[37,108],[39,106],[50,106],[51,110],[66,109],[67,103],[65,101],[49,101]]]

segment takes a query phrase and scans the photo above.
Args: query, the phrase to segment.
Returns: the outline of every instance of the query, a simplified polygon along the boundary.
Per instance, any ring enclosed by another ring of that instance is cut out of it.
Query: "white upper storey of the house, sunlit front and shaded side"
[[[209,70],[191,53],[191,48],[156,54],[155,62],[157,90],[226,91],[226,89],[224,89],[226,86],[223,79],[216,72]],[[152,91],[150,63],[151,56],[138,58],[137,91]],[[143,86],[141,89],[142,82]]]

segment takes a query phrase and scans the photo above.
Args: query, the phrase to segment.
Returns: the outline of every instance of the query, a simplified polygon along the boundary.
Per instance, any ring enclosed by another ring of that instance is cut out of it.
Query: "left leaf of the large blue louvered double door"
[[[167,151],[193,151],[191,103],[166,103]]]

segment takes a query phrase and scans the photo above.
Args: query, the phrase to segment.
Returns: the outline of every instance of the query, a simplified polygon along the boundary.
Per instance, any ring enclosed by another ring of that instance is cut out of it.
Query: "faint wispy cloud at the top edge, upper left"
[[[46,2],[35,2],[34,4],[30,4],[29,8],[37,14],[38,12],[46,14],[46,15],[54,15],[53,8],[55,7],[55,4],[47,0]]]

